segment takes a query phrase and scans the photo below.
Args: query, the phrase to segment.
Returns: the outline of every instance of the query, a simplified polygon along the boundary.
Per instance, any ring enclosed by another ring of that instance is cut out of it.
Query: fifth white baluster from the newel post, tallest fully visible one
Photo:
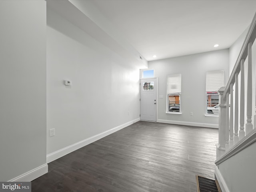
[[[253,129],[252,126],[252,42],[248,43],[248,76],[247,76],[247,122],[245,125],[246,135]]]

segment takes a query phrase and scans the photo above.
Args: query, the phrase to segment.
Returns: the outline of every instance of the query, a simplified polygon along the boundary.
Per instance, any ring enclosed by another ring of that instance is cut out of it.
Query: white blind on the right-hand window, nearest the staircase
[[[224,71],[206,72],[206,92],[215,92],[224,86]]]

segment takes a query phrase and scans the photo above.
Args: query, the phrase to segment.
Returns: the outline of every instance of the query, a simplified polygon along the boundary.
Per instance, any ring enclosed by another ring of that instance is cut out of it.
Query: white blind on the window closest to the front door
[[[167,76],[167,94],[181,93],[181,74]]]

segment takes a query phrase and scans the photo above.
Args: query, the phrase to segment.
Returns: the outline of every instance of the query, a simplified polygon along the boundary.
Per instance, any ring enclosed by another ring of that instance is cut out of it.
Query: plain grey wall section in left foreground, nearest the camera
[[[46,164],[46,1],[0,1],[0,181]]]

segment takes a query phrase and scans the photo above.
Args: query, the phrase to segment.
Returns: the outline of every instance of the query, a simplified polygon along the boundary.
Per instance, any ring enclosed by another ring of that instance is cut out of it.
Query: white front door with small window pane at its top
[[[140,80],[140,120],[156,121],[156,78]]]

